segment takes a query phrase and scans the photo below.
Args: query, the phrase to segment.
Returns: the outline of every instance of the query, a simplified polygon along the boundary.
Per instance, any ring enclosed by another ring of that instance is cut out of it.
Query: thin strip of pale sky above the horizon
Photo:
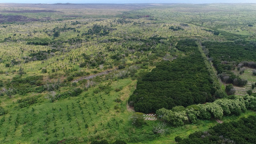
[[[0,3],[256,3],[256,0],[0,0]]]

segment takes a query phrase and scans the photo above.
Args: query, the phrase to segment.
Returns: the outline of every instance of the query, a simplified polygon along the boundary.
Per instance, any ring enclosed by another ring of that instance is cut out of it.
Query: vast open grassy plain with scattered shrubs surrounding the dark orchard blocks
[[[46,9],[57,12],[13,11]],[[205,131],[217,121],[199,120],[180,127],[167,124],[169,132],[165,135],[152,131],[162,122],[160,119],[133,126],[130,117],[134,110],[127,100],[142,75],[161,61],[185,56],[175,48],[180,39],[230,41],[233,37],[255,40],[256,36],[255,4],[0,3],[0,21],[0,106],[5,110],[0,115],[0,143],[91,143],[102,139],[175,143],[177,135],[185,138],[195,131]],[[214,35],[214,31],[221,34]],[[29,44],[31,41],[48,44]],[[198,48],[211,76],[217,75],[205,51]],[[39,59],[41,56],[45,58]],[[87,80],[70,82],[104,71],[112,72],[90,79],[90,86]],[[234,73],[239,75],[237,70]],[[244,95],[256,77],[249,68],[239,76],[248,80],[245,87],[235,87],[237,95]],[[15,81],[17,77],[23,81]],[[58,80],[58,88],[44,89]],[[77,88],[82,92],[65,97]],[[225,86],[221,89],[225,91]],[[51,102],[47,97],[55,93],[64,96]],[[31,98],[36,101],[21,106],[20,101]],[[224,116],[222,121],[249,115],[256,113],[247,110],[240,116]]]

